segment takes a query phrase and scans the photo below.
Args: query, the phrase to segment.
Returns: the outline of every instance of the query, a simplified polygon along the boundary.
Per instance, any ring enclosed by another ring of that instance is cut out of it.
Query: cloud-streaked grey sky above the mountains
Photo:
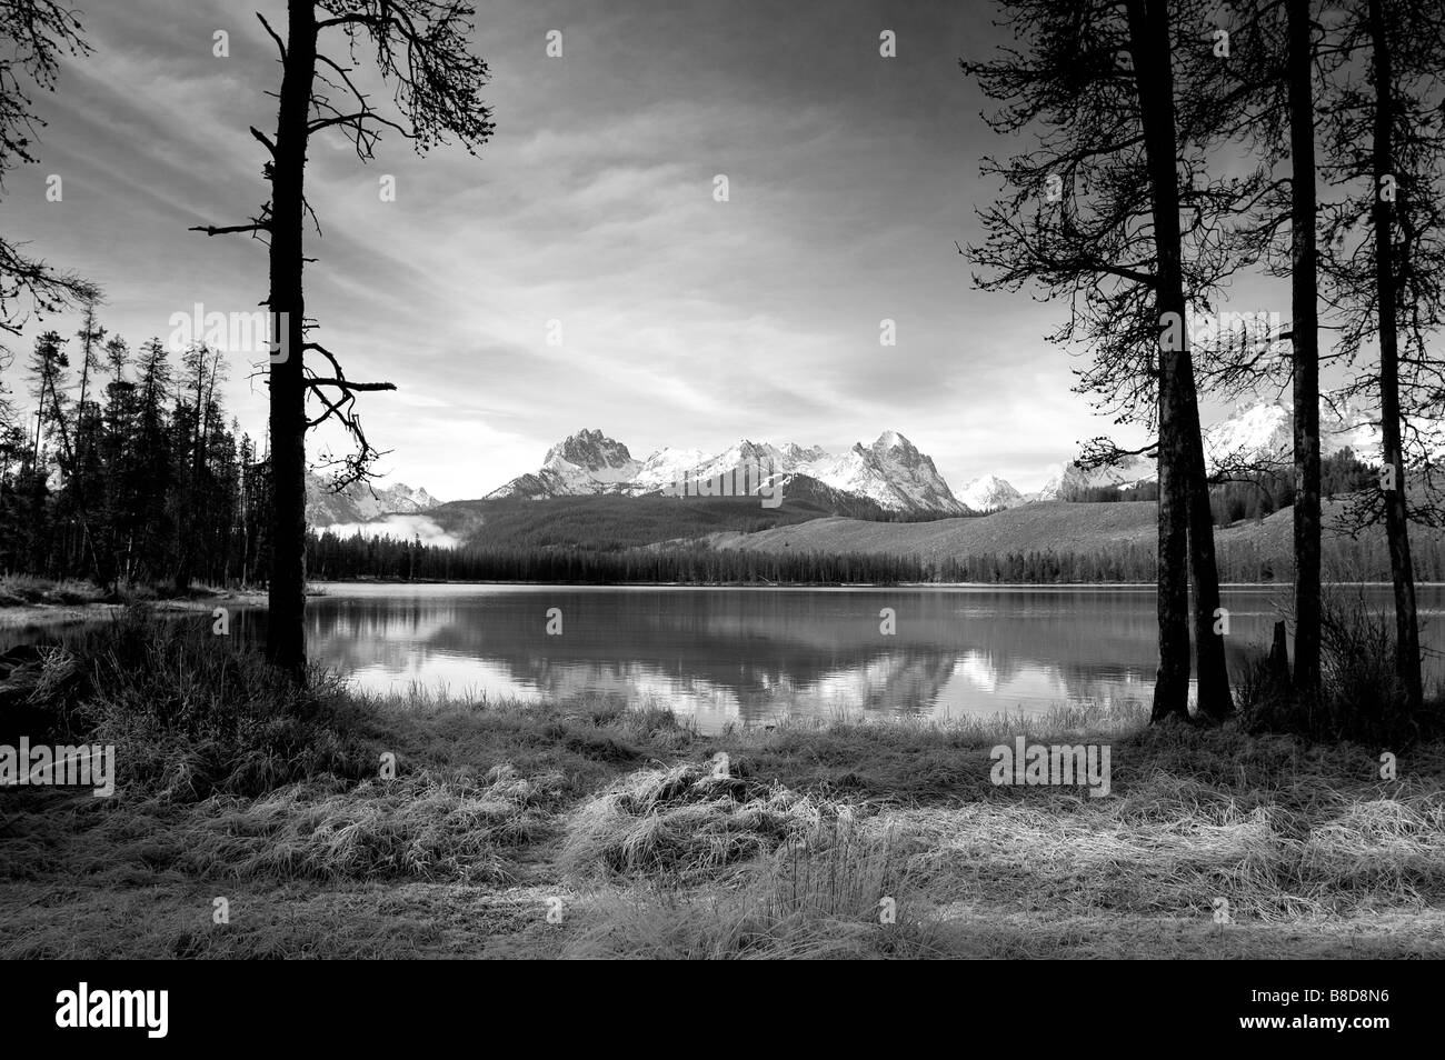
[[[197,305],[254,312],[264,247],[186,230],[266,199],[247,127],[275,127],[280,68],[253,12],[283,26],[283,3],[78,7],[94,55],[39,100],[40,160],[7,176],[3,231],[100,283],[101,322],[133,348]],[[363,165],[335,131],[309,156],[308,313],[350,378],[397,386],[358,399],[389,481],[481,497],[584,427],[639,459],[744,438],[842,451],[892,429],[955,490],[997,474],[1027,491],[1082,439],[1140,438],[1071,391],[1077,354],[1043,338],[1065,308],[975,290],[955,248],[998,191],[980,157],[1022,146],[990,133],[958,68],[996,43],[988,4],[480,7],[496,133],[477,156],[418,157],[393,134]],[[225,390],[253,436],[257,360],[237,352]]]

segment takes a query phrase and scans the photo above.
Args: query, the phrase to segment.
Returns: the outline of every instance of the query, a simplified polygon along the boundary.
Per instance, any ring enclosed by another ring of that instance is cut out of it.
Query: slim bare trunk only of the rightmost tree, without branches
[[[1412,712],[1423,702],[1420,634],[1415,608],[1415,570],[1410,565],[1409,516],[1405,497],[1405,455],[1400,445],[1400,352],[1396,326],[1394,237],[1392,204],[1383,196],[1386,176],[1393,176],[1392,69],[1381,0],[1370,0],[1370,39],[1374,49],[1374,267],[1380,306],[1380,433],[1384,464],[1392,477],[1384,491],[1384,529],[1390,540],[1390,578],[1394,582],[1396,672]]]

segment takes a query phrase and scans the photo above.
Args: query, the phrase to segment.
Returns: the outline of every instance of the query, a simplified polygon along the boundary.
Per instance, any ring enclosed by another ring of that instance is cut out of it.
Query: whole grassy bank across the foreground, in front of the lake
[[[296,696],[194,631],[94,637],[0,692],[120,763],[113,799],[0,791],[4,957],[1445,955],[1439,742],[1100,711],[702,735],[601,699]],[[994,786],[1019,735],[1108,744],[1111,793]]]

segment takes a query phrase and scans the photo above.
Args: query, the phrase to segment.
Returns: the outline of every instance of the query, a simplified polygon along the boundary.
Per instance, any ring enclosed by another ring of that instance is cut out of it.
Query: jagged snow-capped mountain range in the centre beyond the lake
[[[699,449],[665,448],[644,461],[633,459],[627,446],[600,430],[582,430],[552,446],[540,471],[514,478],[487,497],[636,495],[715,479],[744,466],[772,469],[782,477],[785,492],[788,482],[802,475],[887,511],[967,511],[933,461],[896,430],[886,430],[871,446],[860,442],[840,455],[822,446],[743,439],[711,456]]]

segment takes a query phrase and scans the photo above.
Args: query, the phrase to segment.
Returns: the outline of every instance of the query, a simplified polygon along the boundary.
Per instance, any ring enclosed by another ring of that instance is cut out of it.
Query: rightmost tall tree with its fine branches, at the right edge
[[[1423,700],[1412,518],[1438,518],[1412,488],[1429,491],[1432,449],[1445,396],[1445,362],[1429,336],[1445,323],[1445,13],[1433,3],[1354,0],[1344,9],[1341,48],[1363,78],[1347,81],[1329,107],[1328,172],[1347,192],[1329,211],[1322,273],[1340,326],[1338,352],[1358,364],[1374,339],[1379,358],[1342,399],[1379,403],[1383,468],[1379,488],[1353,514],[1384,521],[1394,586],[1396,669],[1412,711]]]

